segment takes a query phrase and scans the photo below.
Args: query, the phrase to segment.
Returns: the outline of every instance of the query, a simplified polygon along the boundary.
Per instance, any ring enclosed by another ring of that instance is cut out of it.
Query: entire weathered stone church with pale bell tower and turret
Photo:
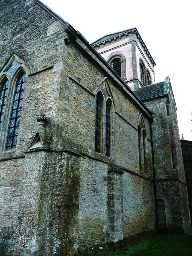
[[[89,44],[39,0],[0,1],[0,255],[191,230],[174,95],[154,66],[136,28]]]

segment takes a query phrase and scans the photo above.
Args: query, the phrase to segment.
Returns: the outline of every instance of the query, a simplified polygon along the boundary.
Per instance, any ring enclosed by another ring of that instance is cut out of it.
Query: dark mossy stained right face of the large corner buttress
[[[62,160],[60,155],[59,160]],[[59,255],[74,253],[74,244],[78,234],[78,208],[79,208],[79,161],[75,157],[67,158],[66,166],[59,166],[57,187],[57,222],[61,246]]]

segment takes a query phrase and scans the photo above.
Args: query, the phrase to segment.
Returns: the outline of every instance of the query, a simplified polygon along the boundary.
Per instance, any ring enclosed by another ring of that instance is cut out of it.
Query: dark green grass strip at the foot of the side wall
[[[126,251],[103,252],[100,256],[192,256],[192,234],[158,235],[128,247]]]

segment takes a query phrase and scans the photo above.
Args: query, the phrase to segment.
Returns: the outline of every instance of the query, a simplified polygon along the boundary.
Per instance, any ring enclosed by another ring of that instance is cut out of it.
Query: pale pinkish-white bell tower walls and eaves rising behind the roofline
[[[150,84],[154,84],[155,63],[136,29],[116,34],[110,35],[110,38],[104,36],[104,38],[94,42],[92,45],[109,64],[112,59],[116,57],[123,58],[124,56],[124,60],[121,58],[121,78],[132,90],[145,86],[145,84],[142,84],[140,76],[140,62],[144,66],[144,72],[148,71],[150,75]]]

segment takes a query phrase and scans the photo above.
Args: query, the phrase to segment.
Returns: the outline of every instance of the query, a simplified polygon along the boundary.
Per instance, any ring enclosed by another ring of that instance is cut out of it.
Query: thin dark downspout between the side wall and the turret
[[[154,185],[154,200],[155,200],[155,217],[156,217],[156,229],[158,228],[158,212],[157,212],[157,192],[156,192],[156,180],[155,180],[155,164],[154,164],[154,149],[153,149],[153,137],[152,137],[152,122],[153,119],[149,118],[150,134],[151,134],[151,153],[152,153],[152,171],[153,171],[153,185]]]

